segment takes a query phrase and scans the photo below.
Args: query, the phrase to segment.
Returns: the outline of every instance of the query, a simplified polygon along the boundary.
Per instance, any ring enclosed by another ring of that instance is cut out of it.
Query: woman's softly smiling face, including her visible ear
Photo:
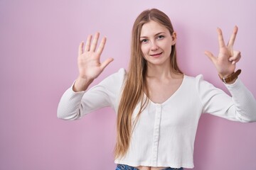
[[[141,49],[148,66],[170,64],[171,45],[176,41],[176,33],[156,21],[149,21],[142,26],[140,35]]]

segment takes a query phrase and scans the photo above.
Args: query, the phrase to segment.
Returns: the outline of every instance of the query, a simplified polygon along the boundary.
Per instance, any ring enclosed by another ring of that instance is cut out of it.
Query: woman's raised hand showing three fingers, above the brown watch
[[[218,43],[219,43],[219,54],[215,57],[211,52],[206,51],[205,54],[215,65],[220,77],[228,77],[235,71],[235,64],[240,60],[240,51],[233,50],[233,45],[235,43],[235,37],[238,33],[238,27],[235,26],[233,34],[230,37],[228,45],[225,45],[223,40],[223,33],[220,28],[217,29],[218,32]]]

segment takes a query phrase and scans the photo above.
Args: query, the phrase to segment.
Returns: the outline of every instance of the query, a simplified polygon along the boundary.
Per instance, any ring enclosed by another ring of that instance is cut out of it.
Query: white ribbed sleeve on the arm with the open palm
[[[91,89],[74,92],[72,86],[65,91],[58,104],[57,116],[64,120],[76,120],[99,108],[110,106],[117,111],[117,102],[124,81],[125,70],[116,72]]]

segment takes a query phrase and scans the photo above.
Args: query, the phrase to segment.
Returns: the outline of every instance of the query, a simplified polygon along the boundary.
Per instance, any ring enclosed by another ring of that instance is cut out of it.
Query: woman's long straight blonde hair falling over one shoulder
[[[114,157],[124,157],[129,148],[129,143],[132,135],[132,113],[134,108],[141,101],[139,114],[145,108],[148,98],[144,100],[144,93],[148,96],[149,91],[146,86],[146,60],[143,57],[141,50],[140,35],[142,26],[149,21],[156,21],[162,26],[165,26],[171,33],[174,33],[174,28],[171,21],[165,13],[156,8],[143,11],[139,14],[132,28],[132,45],[131,57],[129,62],[129,72],[127,73],[122,97],[120,99],[118,114],[117,114],[117,143],[114,149]],[[171,47],[171,69],[176,73],[182,73],[176,62],[176,47]]]

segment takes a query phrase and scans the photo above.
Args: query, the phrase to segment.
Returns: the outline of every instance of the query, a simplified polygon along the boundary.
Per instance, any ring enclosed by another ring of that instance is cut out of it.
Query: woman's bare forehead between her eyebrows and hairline
[[[156,35],[157,33],[161,32],[169,33],[169,30],[160,23],[156,23],[156,21],[149,21],[149,23],[144,23],[142,26],[141,36],[148,37],[150,35]]]

